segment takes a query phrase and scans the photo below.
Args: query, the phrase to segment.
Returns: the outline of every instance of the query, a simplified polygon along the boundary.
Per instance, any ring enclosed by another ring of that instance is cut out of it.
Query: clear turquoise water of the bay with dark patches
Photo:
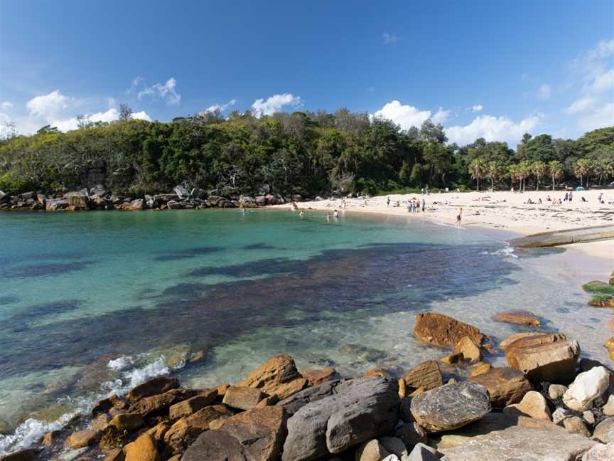
[[[491,314],[532,309],[606,357],[609,312],[586,307],[586,280],[551,277],[556,255],[512,255],[503,234],[225,210],[2,213],[0,236],[0,420],[17,429],[0,454],[158,373],[212,386],[279,353],[409,368],[444,354],[412,337],[423,310],[502,339],[519,327]]]

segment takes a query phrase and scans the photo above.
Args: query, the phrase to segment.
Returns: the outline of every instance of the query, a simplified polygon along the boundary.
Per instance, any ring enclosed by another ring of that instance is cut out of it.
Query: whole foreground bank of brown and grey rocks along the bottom
[[[500,320],[539,326],[524,311]],[[580,359],[577,341],[534,331],[492,344],[436,312],[417,314],[414,337],[446,355],[360,377],[281,355],[206,389],[157,376],[2,461],[614,459],[614,371]],[[507,366],[483,360],[497,349]]]

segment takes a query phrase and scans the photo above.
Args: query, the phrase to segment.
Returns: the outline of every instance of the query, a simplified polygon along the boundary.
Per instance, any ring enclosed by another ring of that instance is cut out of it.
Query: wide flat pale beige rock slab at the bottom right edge
[[[441,461],[575,461],[596,442],[556,429],[512,427],[439,448]]]

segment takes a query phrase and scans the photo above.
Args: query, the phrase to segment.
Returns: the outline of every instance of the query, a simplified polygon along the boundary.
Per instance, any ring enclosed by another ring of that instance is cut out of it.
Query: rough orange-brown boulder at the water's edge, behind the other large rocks
[[[435,346],[455,346],[463,337],[470,337],[475,344],[482,344],[484,335],[473,325],[465,324],[437,312],[416,314],[414,337]]]

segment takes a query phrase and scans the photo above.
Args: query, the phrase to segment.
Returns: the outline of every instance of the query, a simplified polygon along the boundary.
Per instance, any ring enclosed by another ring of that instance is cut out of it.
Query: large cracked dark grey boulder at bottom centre
[[[391,432],[399,413],[397,380],[357,378],[306,404],[288,420],[284,461],[309,461],[340,453]]]

